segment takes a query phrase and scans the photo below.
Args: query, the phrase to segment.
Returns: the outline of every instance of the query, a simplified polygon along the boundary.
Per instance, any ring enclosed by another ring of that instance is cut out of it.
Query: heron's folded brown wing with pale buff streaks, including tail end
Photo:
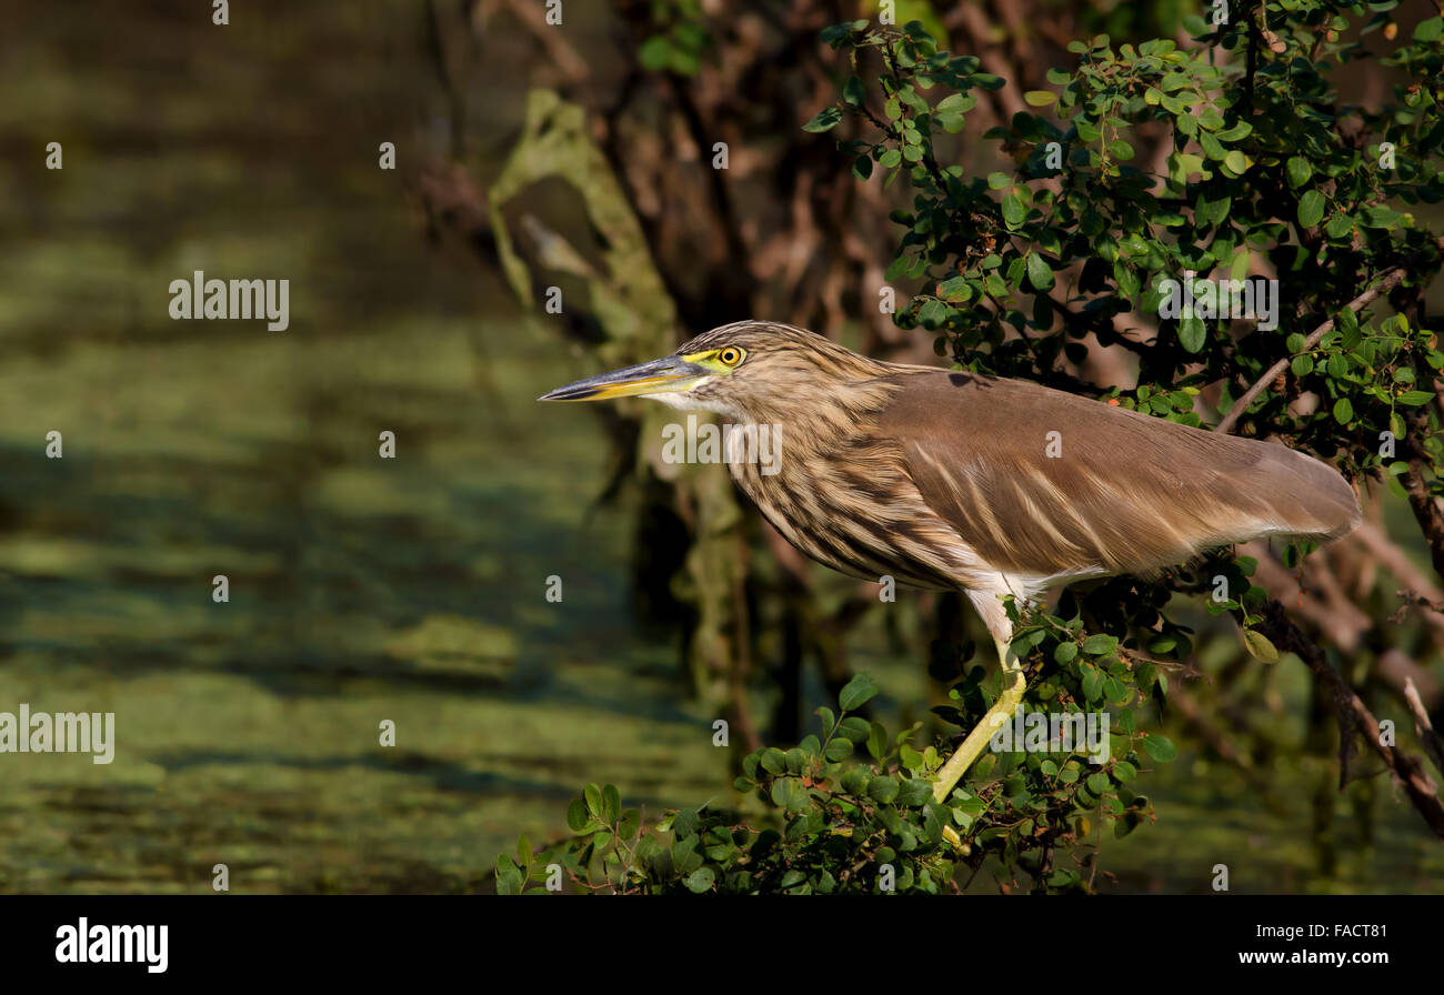
[[[879,432],[902,446],[928,507],[1009,573],[1148,573],[1261,536],[1334,539],[1359,521],[1331,466],[1281,445],[1021,380],[894,380]]]

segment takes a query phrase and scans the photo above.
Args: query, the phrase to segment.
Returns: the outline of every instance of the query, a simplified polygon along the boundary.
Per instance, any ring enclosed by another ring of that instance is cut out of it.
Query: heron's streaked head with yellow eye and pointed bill
[[[747,321],[703,332],[661,360],[579,380],[539,400],[650,397],[754,422],[784,412],[790,399],[816,400],[829,386],[882,373],[882,364],[814,332]]]

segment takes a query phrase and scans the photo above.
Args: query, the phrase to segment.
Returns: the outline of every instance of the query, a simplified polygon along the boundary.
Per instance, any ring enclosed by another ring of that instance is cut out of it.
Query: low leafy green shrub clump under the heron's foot
[[[497,861],[497,890],[546,891],[553,884],[624,894],[786,892],[843,894],[956,887],[959,869],[975,872],[999,858],[1009,875],[1027,872],[1038,891],[1089,887],[1074,846],[1110,826],[1123,836],[1152,819],[1148,799],[1131,784],[1154,762],[1171,760],[1173,744],[1138,731],[1135,682],[1113,657],[1112,637],[1082,638],[1079,622],[1056,628],[1040,618],[1019,641],[1047,656],[1034,695],[1053,712],[1118,711],[1110,755],[1090,764],[1071,752],[985,754],[979,781],[933,800],[939,749],[911,745],[918,726],[890,734],[855,715],[877,687],[855,677],[838,712],[819,709],[820,735],[791,749],[758,749],[742,762],[736,790],[754,816],[728,806],[667,812],[647,823],[622,809],[608,784],[588,786],[567,809],[573,836],[543,853],[523,840],[517,856]],[[972,726],[993,699],[996,677],[973,667],[937,712]],[[944,838],[952,827],[956,839]],[[1086,849],[1086,848],[1084,848]],[[1056,861],[1054,853],[1067,853]]]

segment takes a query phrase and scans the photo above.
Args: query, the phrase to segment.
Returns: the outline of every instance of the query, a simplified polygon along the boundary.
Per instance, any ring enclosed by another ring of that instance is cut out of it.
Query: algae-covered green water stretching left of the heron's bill
[[[580,364],[377,169],[432,140],[414,9],[206,22],[6,25],[0,711],[118,744],[0,754],[0,890],[455,890],[586,780],[708,791],[604,438],[534,404]],[[172,321],[196,269],[289,279],[290,328]]]

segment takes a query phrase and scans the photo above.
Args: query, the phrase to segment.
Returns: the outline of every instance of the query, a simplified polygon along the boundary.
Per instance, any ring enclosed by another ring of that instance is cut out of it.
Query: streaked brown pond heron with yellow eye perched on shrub
[[[1327,542],[1353,488],[1282,445],[1148,417],[1022,380],[879,362],[762,321],[540,400],[640,396],[767,426],[774,472],[734,448],[734,479],[793,546],[843,573],[962,591],[998,647],[998,700],[937,774],[943,801],[1022,702],[1004,598],[1152,576],[1251,539]],[[734,433],[732,439],[747,439]]]

